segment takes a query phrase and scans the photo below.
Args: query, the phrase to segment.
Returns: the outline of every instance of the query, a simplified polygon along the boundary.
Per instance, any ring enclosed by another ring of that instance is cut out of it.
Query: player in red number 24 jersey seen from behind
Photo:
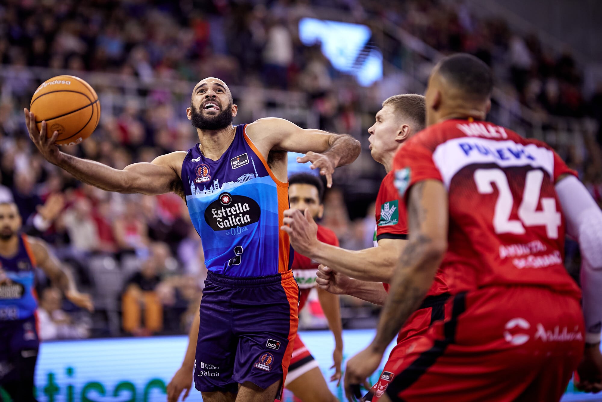
[[[426,91],[429,127],[394,160],[409,243],[376,338],[349,360],[346,383],[376,369],[438,267],[452,298],[450,315],[414,343],[411,364],[394,373],[381,401],[557,401],[583,357],[581,293],[562,264],[556,192],[574,172],[544,143],[485,122],[491,90],[491,72],[476,57],[442,60]],[[589,258],[599,234],[580,234]],[[589,331],[599,336],[600,328]],[[582,372],[594,382],[600,373]]]

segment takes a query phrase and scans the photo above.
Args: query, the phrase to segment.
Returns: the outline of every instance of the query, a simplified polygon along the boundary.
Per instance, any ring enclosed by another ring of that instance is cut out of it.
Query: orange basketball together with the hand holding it
[[[57,145],[75,145],[90,136],[98,126],[101,105],[96,91],[84,80],[58,75],[45,81],[25,108],[29,138],[48,162],[57,165],[61,151]]]

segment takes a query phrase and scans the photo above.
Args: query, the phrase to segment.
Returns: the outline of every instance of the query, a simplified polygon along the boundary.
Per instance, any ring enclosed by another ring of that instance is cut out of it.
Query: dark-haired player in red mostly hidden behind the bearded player
[[[309,209],[311,215],[319,219],[324,213],[322,199],[324,196],[324,184],[316,175],[301,173],[288,179],[288,198],[291,208],[305,211]],[[328,244],[338,246],[337,236],[329,229],[320,226],[318,238]],[[318,264],[312,262],[308,257],[295,253],[293,260],[293,274],[299,284],[299,311],[305,306],[309,291],[315,287],[315,271]],[[332,354],[335,374],[330,377],[331,381],[341,380],[341,362],[343,362],[343,327],[341,325],[341,312],[338,296],[318,289],[318,300],[328,321],[330,330],[335,338],[335,351]],[[182,367],[176,372],[167,385],[167,401],[176,402],[182,391],[185,391],[184,399],[188,396],[191,388],[191,367],[194,365],[194,348],[197,334],[199,332],[199,318],[195,317],[188,339],[187,356]],[[303,402],[336,402],[337,398],[328,389],[326,381],[320,372],[317,360],[301,341],[297,334],[293,343],[293,354],[288,366],[285,388],[293,392],[294,396]]]

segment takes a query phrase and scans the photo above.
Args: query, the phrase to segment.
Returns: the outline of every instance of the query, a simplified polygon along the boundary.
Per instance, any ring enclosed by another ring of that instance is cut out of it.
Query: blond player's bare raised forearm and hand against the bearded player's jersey
[[[299,210],[288,209],[284,217],[285,226],[281,229],[288,233],[297,253],[359,280],[390,283],[394,268],[408,243],[404,239],[380,239],[379,247],[345,250],[317,239],[318,227],[309,211],[303,216]]]

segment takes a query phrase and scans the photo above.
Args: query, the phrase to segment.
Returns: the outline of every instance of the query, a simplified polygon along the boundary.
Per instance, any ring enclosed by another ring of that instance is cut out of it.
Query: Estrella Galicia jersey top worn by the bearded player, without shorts
[[[288,235],[280,230],[288,208],[288,183],[279,181],[245,133],[218,160],[199,144],[182,163],[190,218],[203,243],[205,265],[216,274],[261,277],[290,269]]]

